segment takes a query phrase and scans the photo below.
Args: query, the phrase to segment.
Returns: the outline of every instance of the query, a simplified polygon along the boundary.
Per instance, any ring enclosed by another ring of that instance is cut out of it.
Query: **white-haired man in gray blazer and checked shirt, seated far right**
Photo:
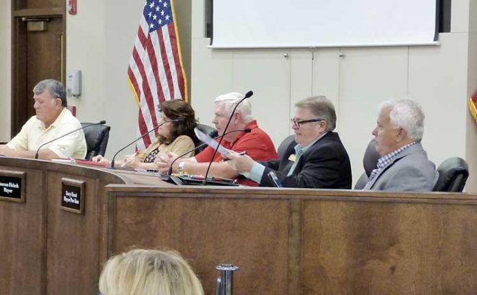
[[[424,113],[410,99],[380,104],[378,126],[373,130],[381,158],[364,189],[376,191],[432,191],[435,165],[421,145]]]

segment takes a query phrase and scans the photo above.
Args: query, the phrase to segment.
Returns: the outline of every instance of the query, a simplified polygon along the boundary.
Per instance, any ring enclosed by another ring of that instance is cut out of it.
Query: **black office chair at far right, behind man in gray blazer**
[[[469,166],[463,158],[452,157],[437,167],[439,178],[432,191],[462,192],[469,177]]]

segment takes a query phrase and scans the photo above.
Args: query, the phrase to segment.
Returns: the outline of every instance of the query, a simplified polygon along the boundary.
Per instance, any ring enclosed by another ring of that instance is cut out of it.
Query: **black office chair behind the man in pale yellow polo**
[[[81,123],[86,126],[91,123]],[[91,160],[93,156],[104,156],[108,146],[109,132],[111,127],[107,125],[93,125],[83,129],[86,139],[86,159]]]

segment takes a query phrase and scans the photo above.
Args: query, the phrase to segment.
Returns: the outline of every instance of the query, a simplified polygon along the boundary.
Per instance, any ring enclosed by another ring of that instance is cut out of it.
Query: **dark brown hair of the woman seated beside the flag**
[[[180,135],[187,135],[194,138],[194,128],[197,126],[195,119],[195,112],[190,104],[180,99],[168,100],[159,105],[159,110],[169,119],[181,119],[177,122],[172,122],[171,135],[166,138],[159,135],[159,142],[171,144]]]

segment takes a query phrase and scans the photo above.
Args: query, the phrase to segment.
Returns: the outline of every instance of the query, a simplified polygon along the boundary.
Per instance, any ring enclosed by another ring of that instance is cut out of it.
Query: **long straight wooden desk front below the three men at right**
[[[109,255],[173,248],[214,294],[473,294],[477,196],[110,185]]]

